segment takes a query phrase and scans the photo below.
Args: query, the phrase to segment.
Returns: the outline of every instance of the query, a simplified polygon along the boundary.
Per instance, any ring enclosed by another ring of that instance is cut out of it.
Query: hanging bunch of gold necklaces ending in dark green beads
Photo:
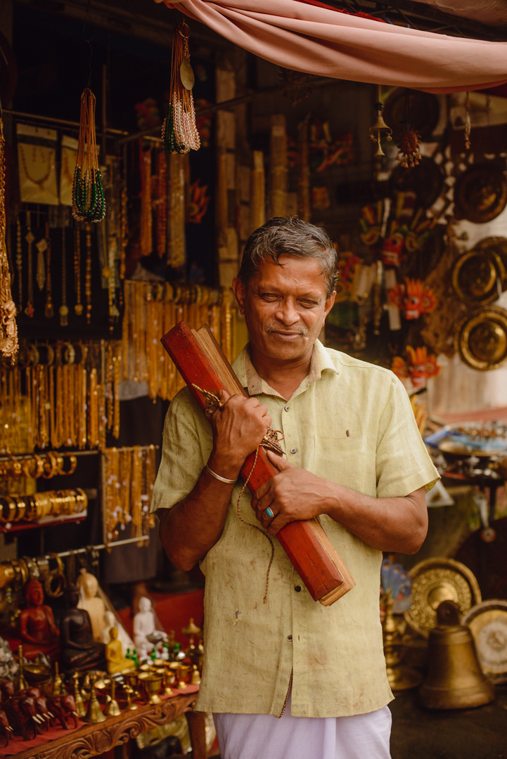
[[[81,95],[77,160],[72,184],[72,216],[77,222],[102,222],[105,216],[95,134],[95,95],[89,87]]]

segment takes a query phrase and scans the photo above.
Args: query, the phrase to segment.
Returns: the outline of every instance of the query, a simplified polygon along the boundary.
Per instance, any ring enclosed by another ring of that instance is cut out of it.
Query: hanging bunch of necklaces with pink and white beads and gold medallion
[[[167,153],[188,153],[200,148],[192,96],[195,77],[188,51],[188,36],[188,26],[183,21],[172,36],[169,106],[162,124],[162,140]]]

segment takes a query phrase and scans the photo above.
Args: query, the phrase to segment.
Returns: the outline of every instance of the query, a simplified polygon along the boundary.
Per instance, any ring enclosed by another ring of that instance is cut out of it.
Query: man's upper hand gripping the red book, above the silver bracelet
[[[271,417],[267,406],[257,398],[229,395],[226,390],[220,392],[219,398],[223,405],[211,420],[213,451],[208,463],[211,468],[215,465],[223,477],[235,477],[245,458],[260,446]]]

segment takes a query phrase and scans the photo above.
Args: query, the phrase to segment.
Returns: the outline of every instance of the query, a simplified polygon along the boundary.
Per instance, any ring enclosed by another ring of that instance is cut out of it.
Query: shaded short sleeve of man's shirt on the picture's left
[[[212,447],[209,422],[191,392],[184,388],[175,395],[165,415],[162,457],[150,511],[172,509],[194,489]]]

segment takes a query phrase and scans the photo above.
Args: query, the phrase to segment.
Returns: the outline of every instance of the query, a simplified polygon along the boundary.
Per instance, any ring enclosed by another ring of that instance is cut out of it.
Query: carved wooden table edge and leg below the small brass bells
[[[204,713],[192,711],[196,698],[197,692],[186,692],[164,698],[160,704],[139,704],[137,710],[123,711],[119,716],[108,717],[105,722],[98,725],[80,723],[75,730],[59,731],[59,737],[49,742],[39,745],[26,742],[25,745],[30,748],[25,751],[4,748],[0,756],[11,756],[13,759],[14,757],[15,759],[88,759],[127,743],[141,732],[165,725],[181,714],[185,714],[191,734],[194,759],[206,759]],[[20,743],[17,742],[17,747],[19,745]]]

